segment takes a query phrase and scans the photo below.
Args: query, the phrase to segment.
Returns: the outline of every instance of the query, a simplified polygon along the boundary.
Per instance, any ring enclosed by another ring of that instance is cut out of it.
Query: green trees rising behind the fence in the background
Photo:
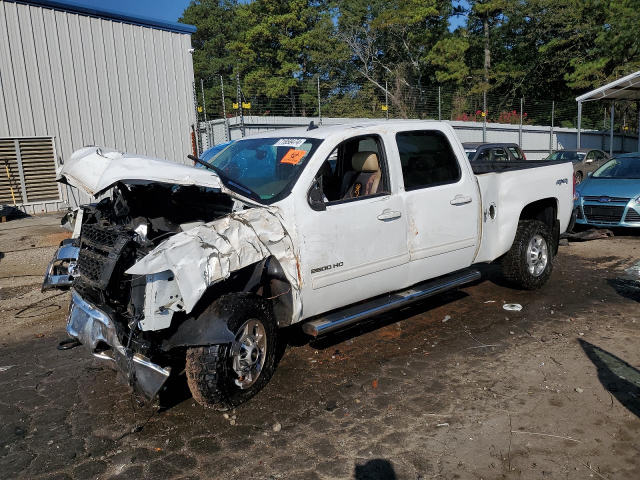
[[[285,106],[287,113],[315,115],[319,79],[324,115],[384,116],[386,95],[392,115],[435,116],[424,107],[433,102],[426,92],[442,86],[500,99],[490,109],[492,118],[511,112],[521,97],[547,106],[563,100],[568,104],[557,124],[573,125],[570,99],[640,70],[637,0],[469,0],[464,5],[457,0],[192,0],[180,20],[198,28],[193,60],[196,79],[209,79],[205,97],[220,97],[219,77],[212,80],[220,74],[229,111],[236,98],[232,79],[239,74],[244,97],[261,106],[252,115]],[[461,12],[467,23],[451,32],[449,19]],[[454,118],[477,110],[477,100],[471,105],[463,97],[451,100]],[[550,108],[531,115],[550,122]],[[603,125],[602,108],[586,109],[585,115],[584,125]]]

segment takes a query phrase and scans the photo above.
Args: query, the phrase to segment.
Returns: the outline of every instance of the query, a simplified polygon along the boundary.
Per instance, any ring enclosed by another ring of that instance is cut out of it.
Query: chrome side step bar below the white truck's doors
[[[460,287],[460,285],[474,282],[480,278],[480,272],[473,269],[460,270],[452,275],[429,280],[422,284],[413,285],[410,289],[374,298],[365,303],[358,303],[337,312],[331,312],[316,320],[302,325],[307,335],[319,337],[339,328],[353,325],[361,320],[380,315],[394,308],[408,305],[414,301]]]

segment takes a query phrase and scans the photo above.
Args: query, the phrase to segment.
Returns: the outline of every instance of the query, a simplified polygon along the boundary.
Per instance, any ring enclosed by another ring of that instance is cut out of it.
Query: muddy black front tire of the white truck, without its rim
[[[275,370],[278,326],[271,303],[250,293],[225,294],[214,301],[203,315],[215,315],[225,320],[234,334],[250,319],[257,319],[266,333],[264,364],[255,382],[243,389],[233,369],[230,344],[193,347],[186,354],[186,376],[189,390],[196,402],[207,408],[230,410],[246,402],[268,383]]]

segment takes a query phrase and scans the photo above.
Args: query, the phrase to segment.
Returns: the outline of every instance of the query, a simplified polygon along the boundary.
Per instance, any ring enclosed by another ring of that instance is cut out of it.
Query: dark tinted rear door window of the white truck
[[[460,180],[458,159],[442,132],[399,132],[396,143],[406,191]]]

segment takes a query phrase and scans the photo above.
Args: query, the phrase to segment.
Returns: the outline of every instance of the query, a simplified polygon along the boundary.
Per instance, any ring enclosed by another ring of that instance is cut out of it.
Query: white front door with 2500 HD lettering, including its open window
[[[401,288],[408,263],[403,200],[380,136],[340,143],[316,179],[321,204],[296,200],[304,318]]]

